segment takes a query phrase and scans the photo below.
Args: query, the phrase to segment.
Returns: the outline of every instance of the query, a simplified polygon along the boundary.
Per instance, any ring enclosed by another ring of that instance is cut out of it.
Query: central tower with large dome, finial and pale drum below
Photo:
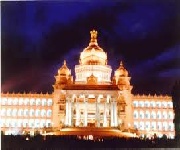
[[[92,77],[97,79],[97,84],[111,84],[112,69],[107,65],[107,54],[98,46],[97,31],[90,34],[89,46],[81,52],[79,65],[75,66],[75,84],[87,84]]]

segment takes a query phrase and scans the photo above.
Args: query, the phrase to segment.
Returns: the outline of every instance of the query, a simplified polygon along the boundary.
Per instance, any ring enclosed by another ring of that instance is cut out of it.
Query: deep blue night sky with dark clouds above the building
[[[95,29],[108,64],[124,62],[133,94],[170,94],[180,80],[179,17],[178,0],[1,2],[1,90],[52,93],[63,60],[74,74]]]

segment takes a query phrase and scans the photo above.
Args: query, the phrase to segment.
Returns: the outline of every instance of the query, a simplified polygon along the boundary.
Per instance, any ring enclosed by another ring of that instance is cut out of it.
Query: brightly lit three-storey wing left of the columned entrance
[[[23,134],[51,127],[52,104],[52,94],[1,94],[1,130]]]

